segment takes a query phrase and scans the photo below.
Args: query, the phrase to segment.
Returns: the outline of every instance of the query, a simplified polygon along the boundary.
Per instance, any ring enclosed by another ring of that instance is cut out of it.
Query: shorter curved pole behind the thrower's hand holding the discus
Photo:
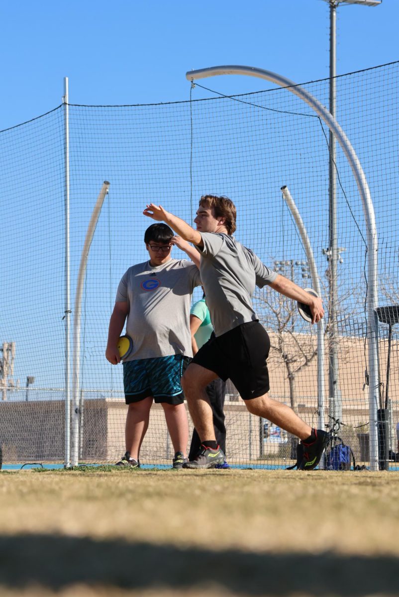
[[[317,265],[314,258],[311,241],[306,231],[305,224],[300,216],[299,210],[291,197],[291,193],[287,186],[281,187],[283,198],[288,205],[288,208],[293,215],[297,228],[299,230],[300,238],[305,248],[306,259],[309,263],[309,270],[311,272],[312,287],[321,296],[320,278],[317,271]],[[318,411],[318,429],[324,429],[324,319],[320,319],[317,324],[317,411]],[[320,467],[319,467],[320,468]]]

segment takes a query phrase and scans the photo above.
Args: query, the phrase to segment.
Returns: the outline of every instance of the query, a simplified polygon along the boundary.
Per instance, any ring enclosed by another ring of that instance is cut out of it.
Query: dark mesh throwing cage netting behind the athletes
[[[379,404],[395,467],[398,383],[399,63],[340,76],[336,119],[366,173],[379,240]],[[216,88],[217,81],[213,81]],[[201,85],[197,85],[201,87]],[[65,104],[0,133],[2,224],[0,444],[5,463],[65,461],[65,263],[70,227],[71,304],[88,222],[104,180],[111,183],[91,244],[81,307],[79,461],[107,463],[124,452],[122,366],[105,359],[119,279],[148,259],[142,215],[149,202],[192,223],[204,193],[237,206],[235,236],[270,267],[311,286],[303,241],[281,187],[306,227],[326,306],[325,398],[318,400],[317,330],[268,287],[254,304],[271,336],[271,396],[350,445],[369,463],[367,247],[363,206],[348,161],[336,148],[336,392],[329,393],[329,130],[284,89],[136,106],[69,104],[70,210],[65,210]],[[328,105],[329,80],[302,85]],[[174,257],[185,257],[177,248]],[[197,300],[200,293],[194,293]],[[382,314],[381,314],[382,313]],[[72,335],[71,335],[72,338]],[[71,340],[71,354],[72,354]],[[385,408],[386,407],[386,408]],[[320,408],[323,413],[320,413]],[[72,413],[73,414],[73,413]],[[75,413],[76,414],[76,413]],[[248,413],[232,384],[225,401],[228,461],[293,464],[295,442]],[[68,426],[67,426],[68,427]],[[170,464],[173,447],[160,407],[152,408],[143,464]]]

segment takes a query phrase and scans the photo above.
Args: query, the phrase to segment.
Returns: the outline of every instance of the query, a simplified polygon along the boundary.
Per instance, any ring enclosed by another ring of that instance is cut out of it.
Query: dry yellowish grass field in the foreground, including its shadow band
[[[0,473],[0,595],[399,595],[395,473]]]

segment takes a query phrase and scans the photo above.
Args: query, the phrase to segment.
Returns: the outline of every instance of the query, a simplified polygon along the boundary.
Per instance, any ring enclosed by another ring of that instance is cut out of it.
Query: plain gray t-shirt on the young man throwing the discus
[[[238,325],[259,319],[253,310],[255,285],[262,288],[274,282],[277,273],[266,267],[253,251],[234,236],[201,232],[202,286],[216,336]]]

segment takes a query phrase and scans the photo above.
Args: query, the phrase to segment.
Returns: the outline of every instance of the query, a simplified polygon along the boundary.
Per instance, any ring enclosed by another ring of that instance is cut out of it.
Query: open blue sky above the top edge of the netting
[[[60,104],[64,76],[70,103],[134,104],[186,100],[186,71],[219,64],[296,82],[329,75],[324,0],[15,0],[1,2],[0,18],[0,129]],[[398,0],[340,5],[337,73],[399,59],[398,23]],[[270,86],[242,76],[204,85],[228,94]]]

